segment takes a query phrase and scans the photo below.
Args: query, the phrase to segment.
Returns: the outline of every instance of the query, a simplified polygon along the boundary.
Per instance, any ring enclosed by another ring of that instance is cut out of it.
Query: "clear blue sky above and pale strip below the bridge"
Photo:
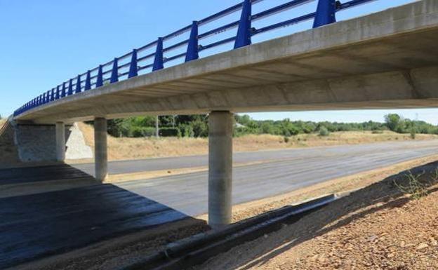
[[[77,74],[124,55],[168,33],[221,11],[241,0],[0,0],[0,114],[8,116],[20,105]],[[265,0],[253,13],[285,3]],[[290,0],[289,0],[290,1]],[[344,0],[346,1],[346,0]],[[377,0],[337,13],[338,20],[382,11],[415,0]],[[315,10],[317,2],[293,8],[253,26],[263,27]],[[201,27],[217,27],[239,13]],[[310,29],[312,22],[253,37],[253,43]],[[232,36],[236,30],[213,36],[205,43]],[[222,36],[221,36],[222,35]],[[182,40],[185,36],[180,37]],[[178,38],[175,39],[178,41]],[[165,43],[166,46],[166,43]],[[201,53],[201,57],[232,49],[232,44]],[[178,51],[176,52],[178,53]],[[171,63],[173,65],[178,62]],[[308,121],[383,121],[388,113],[438,124],[438,109],[355,110],[328,112],[260,112],[254,119]]]

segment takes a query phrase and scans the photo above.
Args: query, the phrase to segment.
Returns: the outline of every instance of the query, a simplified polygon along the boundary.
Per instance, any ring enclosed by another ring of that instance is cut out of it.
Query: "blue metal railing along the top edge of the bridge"
[[[305,22],[312,19],[314,20],[314,28],[328,25],[336,22],[336,12],[376,0],[350,0],[346,1],[345,3],[341,3],[340,1],[336,0],[293,0],[267,9],[266,11],[252,14],[252,6],[262,1],[264,0],[244,0],[240,4],[226,8],[225,10],[208,16],[202,20],[194,21],[191,25],[187,25],[186,27],[183,27],[171,34],[159,37],[156,41],[153,41],[145,46],[135,48],[131,52],[121,55],[119,58],[114,58],[114,60],[110,62],[106,62],[105,64],[99,65],[94,69],[90,69],[83,74],[79,74],[75,78],[62,82],[59,86],[56,86],[42,95],[35,97],[33,100],[15,110],[14,116],[18,116],[29,109],[48,104],[69,95],[77,95],[84,91],[98,89],[101,86],[104,86],[105,83],[116,83],[121,79],[129,79],[138,76],[139,72],[145,72],[146,69],[152,69],[152,72],[155,72],[159,69],[164,69],[164,64],[173,60],[180,58],[185,58],[185,62],[197,60],[199,58],[199,53],[203,50],[208,50],[210,48],[222,46],[232,42],[234,42],[234,49],[248,46],[251,44],[252,36],[272,31],[274,29],[288,27],[299,22]],[[272,15],[276,15],[277,13],[282,13],[291,8],[296,8],[297,6],[309,4],[310,2],[314,1],[318,1],[318,3],[317,10],[313,13],[308,13],[296,18],[277,22],[259,29],[255,29],[255,27],[251,26],[251,22],[256,20],[262,20]],[[239,11],[241,11],[240,20],[229,22],[220,27],[215,27],[214,29],[208,30],[204,33],[199,33],[200,26],[207,25],[210,22],[219,20],[220,18],[232,13],[237,13]],[[207,39],[208,37],[221,34],[236,27],[236,36],[227,37],[225,39],[220,39],[219,41],[214,41],[203,45],[199,44],[199,41],[202,39]],[[185,34],[186,32],[190,32],[188,39],[178,41],[171,46],[164,47],[164,41],[170,41],[181,34]],[[187,47],[185,52],[177,53],[170,57],[164,56],[164,53],[170,53],[173,50],[184,48],[184,46]],[[154,48],[155,50],[152,53],[146,53],[148,49]],[[153,61],[151,62],[152,59]]]

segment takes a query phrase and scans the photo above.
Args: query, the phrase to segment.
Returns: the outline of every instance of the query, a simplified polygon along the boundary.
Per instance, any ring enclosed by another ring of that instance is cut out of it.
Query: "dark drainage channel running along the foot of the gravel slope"
[[[289,205],[277,210],[231,224],[224,229],[207,231],[168,244],[165,250],[125,266],[124,270],[182,270],[201,264],[208,258],[230,250],[234,246],[252,241],[265,234],[277,231],[284,224],[291,224],[310,214],[338,196],[332,194],[321,198]]]

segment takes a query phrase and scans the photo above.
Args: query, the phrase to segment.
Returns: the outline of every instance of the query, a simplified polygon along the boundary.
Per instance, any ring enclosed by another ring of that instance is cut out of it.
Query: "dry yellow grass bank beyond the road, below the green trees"
[[[84,132],[86,143],[94,147],[93,126],[79,123]],[[415,140],[438,139],[438,135],[418,134]],[[267,149],[285,149],[295,147],[319,147],[338,144],[361,144],[372,142],[387,142],[412,140],[409,134],[398,134],[391,131],[373,134],[371,131],[350,131],[331,133],[321,137],[317,134],[300,134],[290,137],[284,142],[284,137],[276,135],[245,135],[234,138],[234,151],[260,151]],[[208,153],[206,138],[108,138],[108,158],[123,160],[135,158],[151,158],[165,156],[190,156]]]

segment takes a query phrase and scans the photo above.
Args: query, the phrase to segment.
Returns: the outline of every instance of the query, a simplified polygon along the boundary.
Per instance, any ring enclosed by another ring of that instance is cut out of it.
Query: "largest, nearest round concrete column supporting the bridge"
[[[208,224],[219,229],[231,223],[233,114],[208,117]]]

